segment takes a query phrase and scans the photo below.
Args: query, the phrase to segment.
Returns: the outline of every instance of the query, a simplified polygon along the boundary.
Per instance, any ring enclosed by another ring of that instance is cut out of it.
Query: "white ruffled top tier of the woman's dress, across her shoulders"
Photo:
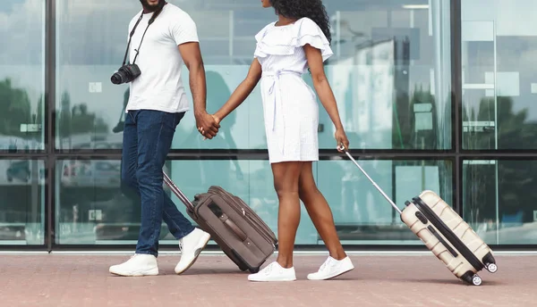
[[[330,48],[328,38],[324,35],[320,27],[309,18],[303,18],[293,25],[281,27],[281,32],[270,33],[275,28],[274,23],[268,24],[256,34],[257,46],[254,57],[264,58],[268,55],[292,55],[296,48],[307,44],[320,50],[322,61],[326,61],[334,53]],[[278,28],[278,27],[276,27]]]

